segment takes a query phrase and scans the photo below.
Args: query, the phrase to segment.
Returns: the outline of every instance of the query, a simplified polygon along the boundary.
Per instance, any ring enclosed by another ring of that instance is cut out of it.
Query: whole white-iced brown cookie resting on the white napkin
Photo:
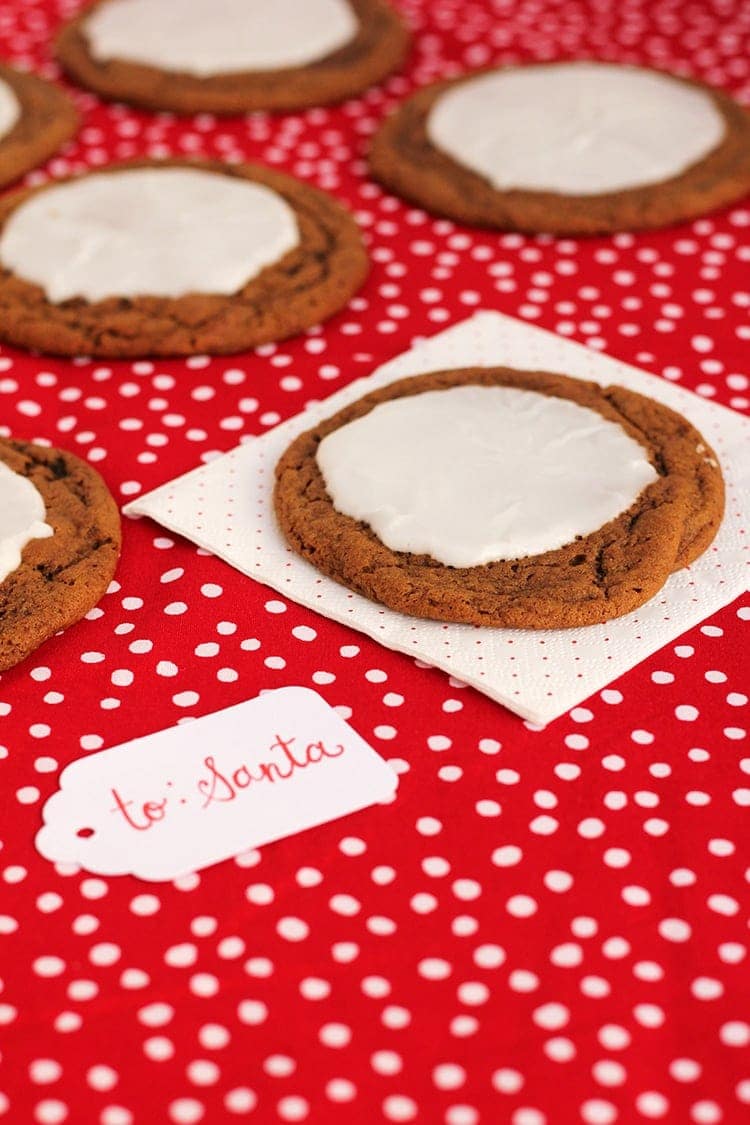
[[[607,621],[713,540],[715,454],[623,387],[468,368],[400,379],[301,434],[277,467],[290,547],[417,618],[519,629]]]

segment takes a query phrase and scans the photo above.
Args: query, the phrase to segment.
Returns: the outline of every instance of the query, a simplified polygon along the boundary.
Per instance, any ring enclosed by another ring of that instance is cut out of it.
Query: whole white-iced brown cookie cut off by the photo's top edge
[[[408,45],[386,0],[100,0],[57,36],[82,86],[178,114],[343,101],[399,66]]]

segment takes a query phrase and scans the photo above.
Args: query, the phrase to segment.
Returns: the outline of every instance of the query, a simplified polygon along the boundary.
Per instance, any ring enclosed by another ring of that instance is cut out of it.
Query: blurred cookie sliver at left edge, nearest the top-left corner
[[[0,65],[0,187],[52,156],[78,123],[73,104],[56,86]]]

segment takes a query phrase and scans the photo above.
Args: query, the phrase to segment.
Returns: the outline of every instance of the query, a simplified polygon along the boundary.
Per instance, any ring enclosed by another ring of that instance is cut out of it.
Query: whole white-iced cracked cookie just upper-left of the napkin
[[[64,356],[242,351],[368,272],[335,199],[260,165],[119,165],[0,200],[0,336]]]

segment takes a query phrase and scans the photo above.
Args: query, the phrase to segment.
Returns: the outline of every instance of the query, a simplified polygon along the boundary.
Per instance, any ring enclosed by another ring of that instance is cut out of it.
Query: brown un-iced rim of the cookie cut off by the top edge
[[[106,3],[106,0],[101,0]],[[362,93],[404,61],[410,36],[385,0],[350,0],[359,32],[338,51],[305,66],[197,78],[125,60],[94,58],[85,37],[87,9],[66,24],[56,51],[66,71],[100,97],[178,114],[289,111]]]

